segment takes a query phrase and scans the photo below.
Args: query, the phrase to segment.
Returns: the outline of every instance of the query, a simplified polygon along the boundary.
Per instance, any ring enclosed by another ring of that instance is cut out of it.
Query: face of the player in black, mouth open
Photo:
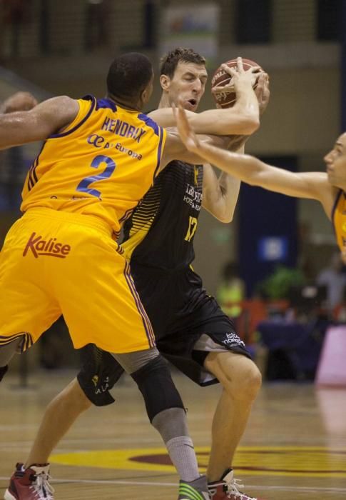
[[[182,101],[185,109],[196,111],[205,91],[208,73],[204,64],[179,62],[173,78],[168,79],[170,103]]]

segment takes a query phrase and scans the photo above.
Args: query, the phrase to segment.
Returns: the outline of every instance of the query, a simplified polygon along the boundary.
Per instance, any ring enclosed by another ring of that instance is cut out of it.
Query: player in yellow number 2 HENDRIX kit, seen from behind
[[[253,74],[239,61],[233,76],[237,104],[200,114],[193,120],[198,131],[250,134],[258,127]],[[59,97],[1,117],[0,148],[45,143],[26,178],[24,216],[0,256],[0,371],[3,376],[14,351],[30,346],[63,314],[74,346],[94,343],[131,374],[182,479],[179,499],[202,500],[208,489],[198,475],[183,403],[112,238],[171,159],[198,161],[177,134],[141,114],[152,82],[150,61],[125,54],[108,72],[107,99]]]

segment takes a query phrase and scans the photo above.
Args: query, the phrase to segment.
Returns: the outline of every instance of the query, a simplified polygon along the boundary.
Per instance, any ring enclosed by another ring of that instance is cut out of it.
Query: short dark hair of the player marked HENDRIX
[[[138,99],[153,76],[153,64],[139,52],[116,57],[108,69],[107,91],[111,96]]]

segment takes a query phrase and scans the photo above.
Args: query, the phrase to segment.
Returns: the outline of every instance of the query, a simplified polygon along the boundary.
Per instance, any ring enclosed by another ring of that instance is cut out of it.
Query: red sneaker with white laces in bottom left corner
[[[54,500],[54,489],[49,484],[49,464],[31,465],[24,469],[23,464],[16,464],[16,471],[11,476],[5,500]]]

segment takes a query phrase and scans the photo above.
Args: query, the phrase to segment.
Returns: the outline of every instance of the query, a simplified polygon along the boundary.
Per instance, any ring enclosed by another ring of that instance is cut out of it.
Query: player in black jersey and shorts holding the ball
[[[195,111],[207,81],[205,59],[190,49],[172,51],[161,64],[162,98],[150,116],[172,126],[173,102]],[[268,86],[260,77],[258,96],[266,104]],[[210,165],[173,161],[159,174],[123,228],[122,247],[131,261],[136,289],[150,317],[163,356],[196,383],[223,385],[213,421],[207,476],[212,499],[239,499],[230,469],[235,449],[260,389],[260,372],[245,344],[191,267],[193,237],[203,206],[230,222],[240,183]],[[96,346],[82,350],[83,366],[46,410],[27,464],[46,464],[49,454],[82,411],[112,403],[109,389],[123,373],[110,354]],[[243,494],[243,500],[250,499]]]

